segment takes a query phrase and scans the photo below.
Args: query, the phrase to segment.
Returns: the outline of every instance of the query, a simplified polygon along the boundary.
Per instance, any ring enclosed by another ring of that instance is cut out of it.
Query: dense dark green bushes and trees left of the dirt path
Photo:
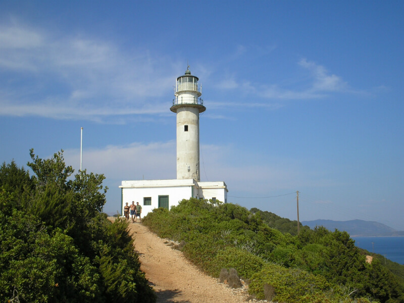
[[[154,303],[127,223],[101,213],[104,175],[31,159],[32,177],[0,167],[0,302]]]

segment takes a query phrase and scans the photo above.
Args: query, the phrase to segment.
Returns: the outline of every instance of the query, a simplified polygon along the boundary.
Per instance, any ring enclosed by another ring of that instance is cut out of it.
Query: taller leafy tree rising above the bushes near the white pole
[[[30,149],[32,162],[28,166],[35,173],[36,194],[26,207],[36,213],[48,226],[62,228],[82,243],[85,225],[106,203],[108,187],[102,185],[104,175],[80,171],[74,179],[71,166],[66,166],[63,150],[51,159],[42,160]]]

